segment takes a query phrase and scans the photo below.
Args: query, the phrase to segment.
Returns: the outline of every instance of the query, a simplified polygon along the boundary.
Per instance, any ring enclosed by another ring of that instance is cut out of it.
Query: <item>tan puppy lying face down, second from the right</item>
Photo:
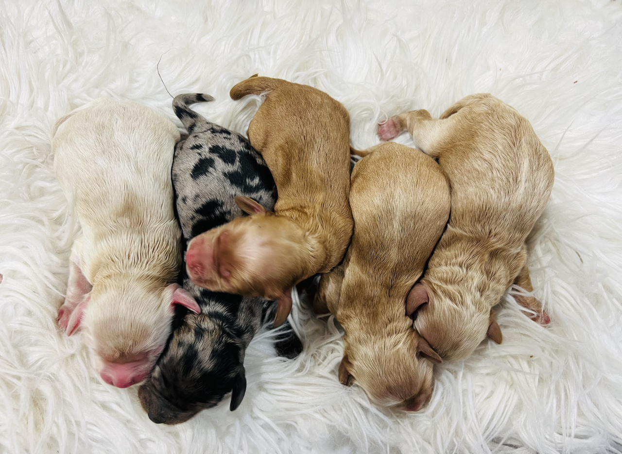
[[[365,154],[352,172],[352,243],[322,277],[313,309],[327,307],[345,329],[341,383],[356,380],[374,402],[417,411],[432,397],[431,361],[440,357],[404,301],[447,223],[449,185],[434,160],[404,145]]]

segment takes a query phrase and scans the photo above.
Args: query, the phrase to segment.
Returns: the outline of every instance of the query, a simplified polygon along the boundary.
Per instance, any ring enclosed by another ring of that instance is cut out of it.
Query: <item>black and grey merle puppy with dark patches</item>
[[[251,143],[188,107],[201,101],[213,98],[180,94],[173,100],[175,114],[189,134],[175,146],[172,169],[177,213],[186,242],[243,216],[233,200],[235,196],[251,197],[267,209],[274,207],[277,197],[272,174]],[[177,314],[167,347],[138,391],[149,418],[165,424],[186,421],[215,406],[230,392],[230,409],[239,406],[246,391],[244,352],[276,310],[274,301],[195,286],[185,272],[185,263],[181,274],[183,288],[195,297],[201,313]],[[277,337],[276,348],[280,355],[294,358],[302,343],[287,328]]]

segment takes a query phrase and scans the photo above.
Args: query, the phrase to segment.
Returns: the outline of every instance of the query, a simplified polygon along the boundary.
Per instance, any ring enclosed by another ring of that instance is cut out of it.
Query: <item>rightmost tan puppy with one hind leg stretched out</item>
[[[452,186],[452,215],[428,270],[407,299],[414,326],[443,358],[466,358],[488,334],[501,342],[492,307],[512,283],[532,290],[525,240],[549,199],[554,171],[531,124],[490,94],[467,96],[432,119],[391,117],[384,140],[408,129]],[[535,298],[517,297],[546,324]]]

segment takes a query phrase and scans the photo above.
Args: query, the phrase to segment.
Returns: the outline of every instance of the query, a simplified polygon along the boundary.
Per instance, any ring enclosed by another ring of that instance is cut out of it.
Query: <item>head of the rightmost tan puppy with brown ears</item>
[[[453,295],[455,300],[461,297]],[[435,293],[428,283],[412,287],[406,299],[406,314],[414,318],[417,332],[443,358],[470,356],[486,336],[496,343],[503,339],[493,311],[479,311],[477,304],[452,301],[444,293]]]

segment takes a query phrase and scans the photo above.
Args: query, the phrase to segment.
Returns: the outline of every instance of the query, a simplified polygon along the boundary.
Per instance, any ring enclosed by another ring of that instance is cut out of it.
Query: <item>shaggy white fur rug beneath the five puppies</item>
[[[529,242],[550,327],[509,294],[503,344],[438,366],[430,406],[406,414],[338,383],[341,333],[299,304],[304,352],[277,358],[259,335],[238,410],[225,399],[153,424],[137,387],[104,384],[81,335],[55,325],[78,225],[50,135],[103,95],[175,119],[160,57],[170,93],[215,96],[197,110],[240,132],[259,101],[231,101],[241,79],[322,89],[350,111],[360,149],[406,109],[438,116],[478,92],[516,107],[555,163]],[[0,0],[0,452],[620,453],[621,143],[620,0]]]

